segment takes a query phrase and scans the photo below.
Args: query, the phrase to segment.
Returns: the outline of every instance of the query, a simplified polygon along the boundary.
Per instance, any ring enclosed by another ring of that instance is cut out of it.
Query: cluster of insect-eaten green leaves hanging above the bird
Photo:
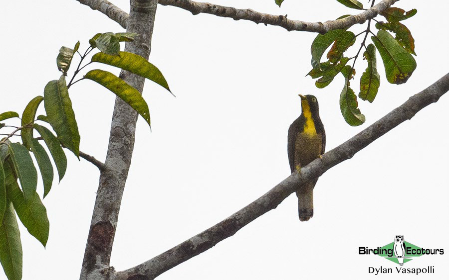
[[[363,9],[362,3],[357,0],[338,0],[340,3],[355,9]],[[372,3],[374,4],[374,2]],[[347,29],[334,29],[325,34],[318,34],[312,42],[312,70],[307,74],[315,81],[315,86],[319,89],[327,87],[341,73],[345,83],[340,93],[340,111],[345,121],[357,126],[365,122],[365,116],[360,112],[357,95],[350,87],[350,80],[355,75],[355,62],[362,48],[363,59],[367,61],[367,68],[360,77],[360,91],[358,97],[370,103],[374,101],[379,87],[380,75],[377,72],[376,49],[384,63],[387,81],[391,84],[400,85],[406,83],[416,69],[416,61],[413,58],[415,53],[415,40],[410,30],[400,21],[412,17],[417,12],[416,9],[405,11],[398,7],[390,7],[380,13],[387,19],[387,22],[377,21],[375,27],[378,29],[374,34],[371,29],[371,19],[368,21],[367,29],[355,35]],[[339,17],[344,18],[348,15]],[[390,32],[395,34],[393,37]],[[357,54],[348,57],[346,51],[354,45],[358,36],[365,34]],[[371,40],[374,44],[366,42],[368,34],[372,34]],[[327,52],[327,61],[321,59]],[[347,65],[353,60],[352,67]]]

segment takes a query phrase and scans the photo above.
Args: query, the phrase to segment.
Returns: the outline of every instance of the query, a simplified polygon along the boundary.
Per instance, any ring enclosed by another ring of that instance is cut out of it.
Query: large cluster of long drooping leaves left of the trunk
[[[97,62],[140,75],[170,91],[167,81],[156,66],[139,55],[120,51],[119,42],[133,41],[137,36],[135,33],[98,33],[89,40],[90,46],[84,55],[78,52],[79,41],[73,49],[61,47],[56,65],[62,75],[46,84],[43,96],[38,95],[28,102],[20,118],[20,126],[3,123],[4,120],[19,118],[18,113],[7,111],[0,114],[0,129],[3,131],[14,128],[12,132],[1,133],[6,137],[0,140],[0,262],[9,280],[20,280],[22,274],[22,248],[15,214],[43,246],[48,240],[49,221],[45,206],[36,191],[37,169],[34,162],[37,163],[42,178],[44,198],[51,189],[54,177],[50,156],[59,181],[67,168],[63,148],[79,158],[80,135],[70,100],[70,86],[84,79],[94,81],[122,98],[150,125],[147,102],[136,89],[119,77],[100,69],[90,70],[83,78],[73,82],[75,76],[85,66]],[[81,66],[95,48],[100,52],[93,55],[89,63]],[[76,53],[80,55],[80,62],[67,85],[66,77]],[[46,115],[36,117],[42,101]],[[10,141],[15,136],[20,136],[21,143]]]

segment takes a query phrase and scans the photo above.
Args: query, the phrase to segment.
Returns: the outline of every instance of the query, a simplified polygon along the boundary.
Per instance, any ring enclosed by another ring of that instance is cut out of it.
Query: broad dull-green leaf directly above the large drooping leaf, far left
[[[33,160],[25,146],[11,143],[8,147],[15,174],[20,181],[25,197],[29,198],[36,191],[37,186],[37,172]]]

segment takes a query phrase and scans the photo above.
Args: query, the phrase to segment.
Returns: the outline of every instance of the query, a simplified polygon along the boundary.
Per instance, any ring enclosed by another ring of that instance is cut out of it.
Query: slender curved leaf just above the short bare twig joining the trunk
[[[64,177],[65,170],[67,169],[67,158],[65,157],[64,151],[59,144],[59,140],[45,126],[41,126],[35,123],[34,129],[39,132],[40,136],[45,141],[45,144],[50,151],[51,157],[53,158],[54,164],[56,165],[59,182],[61,182],[62,178]]]

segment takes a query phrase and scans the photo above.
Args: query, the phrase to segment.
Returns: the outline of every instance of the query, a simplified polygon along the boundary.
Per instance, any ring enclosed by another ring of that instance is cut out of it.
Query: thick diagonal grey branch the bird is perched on
[[[352,158],[377,138],[381,137],[402,122],[411,119],[418,111],[427,105],[437,102],[449,91],[449,73],[424,91],[409,98],[360,133],[325,153],[322,159],[316,159],[301,169],[301,176],[294,172],[277,186],[257,198],[255,201],[235,212],[225,220],[184,241],[178,246],[162,253],[126,271],[117,272],[114,280],[154,279],[171,268],[190,258],[214,247],[217,243],[235,234],[262,214],[274,209],[287,196],[294,192],[297,186],[321,176],[333,166]],[[140,277],[140,278],[139,278]]]

